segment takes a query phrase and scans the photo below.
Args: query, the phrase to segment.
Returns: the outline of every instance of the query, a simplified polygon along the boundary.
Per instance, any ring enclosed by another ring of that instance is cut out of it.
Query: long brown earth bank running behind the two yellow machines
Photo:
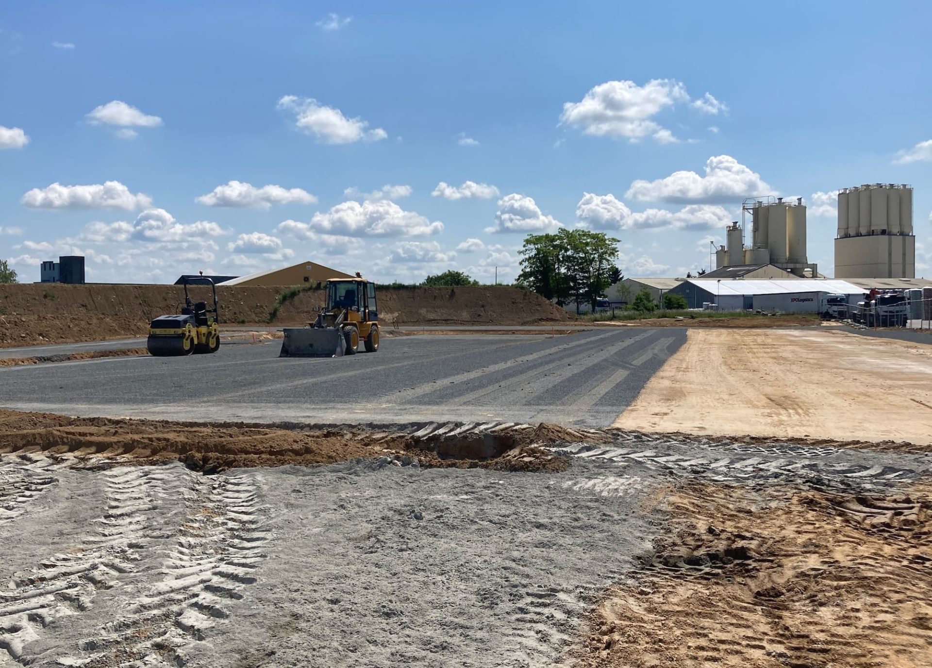
[[[267,323],[287,287],[219,287],[220,316],[226,324]],[[192,298],[208,291],[192,288]],[[175,285],[0,285],[0,347],[95,341],[145,334],[160,315],[177,313],[184,290]],[[285,301],[274,324],[302,325],[323,301],[320,290]],[[525,325],[569,320],[569,313],[539,294],[516,288],[385,288],[378,292],[383,326],[501,324]]]

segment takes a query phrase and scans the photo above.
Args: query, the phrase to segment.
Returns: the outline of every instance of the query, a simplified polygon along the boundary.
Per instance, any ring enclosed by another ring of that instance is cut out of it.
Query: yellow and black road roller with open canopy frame
[[[213,308],[207,302],[192,302],[187,292],[189,283],[210,283]],[[185,278],[185,306],[181,313],[159,316],[149,325],[146,348],[150,355],[171,357],[192,353],[216,352],[220,349],[220,317],[217,309],[217,287],[212,279]]]

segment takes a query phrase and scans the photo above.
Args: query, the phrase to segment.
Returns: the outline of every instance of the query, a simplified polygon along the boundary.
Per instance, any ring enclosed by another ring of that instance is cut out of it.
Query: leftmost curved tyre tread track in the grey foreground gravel
[[[98,590],[117,586],[136,569],[140,551],[152,539],[165,474],[117,469],[103,476],[106,509],[93,521],[97,535],[17,573],[12,588],[0,591],[0,648],[13,661],[30,665],[39,660],[26,647],[53,621],[88,611]]]

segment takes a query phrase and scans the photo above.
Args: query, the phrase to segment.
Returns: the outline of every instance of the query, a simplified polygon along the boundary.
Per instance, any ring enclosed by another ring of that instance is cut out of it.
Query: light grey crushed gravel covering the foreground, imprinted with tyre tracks
[[[354,429],[367,447],[391,436]],[[679,488],[767,497],[760,511],[798,492],[898,494],[932,466],[921,449],[446,423],[395,435],[537,431],[569,466],[425,468],[387,453],[203,475],[47,430],[0,457],[0,665],[621,666],[610,646],[635,636],[610,627],[609,649],[590,647],[606,593],[651,596],[645,565],[708,561],[670,549],[664,499]]]

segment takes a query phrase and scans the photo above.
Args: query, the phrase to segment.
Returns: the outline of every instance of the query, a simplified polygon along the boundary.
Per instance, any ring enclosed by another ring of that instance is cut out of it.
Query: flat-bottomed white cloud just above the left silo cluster
[[[757,172],[731,156],[713,156],[706,160],[705,176],[694,171],[675,171],[656,181],[637,180],[624,197],[638,201],[718,203],[771,193],[774,189]]]

